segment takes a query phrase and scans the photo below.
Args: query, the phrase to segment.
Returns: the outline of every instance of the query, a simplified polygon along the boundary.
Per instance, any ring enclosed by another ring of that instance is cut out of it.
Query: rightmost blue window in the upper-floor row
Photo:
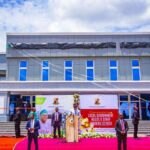
[[[133,80],[140,80],[139,60],[132,60],[132,78]]]

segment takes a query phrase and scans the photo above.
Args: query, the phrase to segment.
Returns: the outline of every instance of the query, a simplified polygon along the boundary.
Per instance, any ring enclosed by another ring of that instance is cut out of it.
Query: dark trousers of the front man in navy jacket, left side
[[[28,135],[28,150],[31,150],[32,139],[34,139],[35,150],[38,150],[38,136],[32,133]]]

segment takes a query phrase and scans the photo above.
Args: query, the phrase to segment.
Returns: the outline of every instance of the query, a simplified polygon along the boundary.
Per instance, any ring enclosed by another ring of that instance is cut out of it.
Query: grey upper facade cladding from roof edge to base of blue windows
[[[41,62],[49,60],[49,80],[64,80],[64,61],[73,61],[73,80],[86,80],[86,61],[94,60],[95,80],[109,80],[109,60],[118,60],[118,80],[132,80],[132,59],[139,59],[141,80],[150,80],[150,48],[121,49],[120,42],[150,42],[150,35],[7,35],[7,42],[116,42],[104,49],[7,49],[7,80],[19,79],[20,60],[28,61],[27,80],[41,80]]]

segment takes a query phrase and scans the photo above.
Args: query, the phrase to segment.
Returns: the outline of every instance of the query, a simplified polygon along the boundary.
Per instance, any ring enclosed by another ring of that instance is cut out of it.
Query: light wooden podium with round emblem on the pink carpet
[[[78,142],[78,119],[79,116],[69,115],[66,118],[66,141]]]

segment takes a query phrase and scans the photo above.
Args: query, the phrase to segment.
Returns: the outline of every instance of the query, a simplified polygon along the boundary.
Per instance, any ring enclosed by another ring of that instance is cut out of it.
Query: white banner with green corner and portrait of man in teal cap
[[[54,113],[55,108],[58,107],[61,113],[69,112],[73,106],[72,95],[37,95],[35,99],[36,111],[40,120],[39,134],[52,134],[51,119],[48,115]],[[44,112],[44,113],[43,113]],[[46,112],[46,113],[45,113]]]

